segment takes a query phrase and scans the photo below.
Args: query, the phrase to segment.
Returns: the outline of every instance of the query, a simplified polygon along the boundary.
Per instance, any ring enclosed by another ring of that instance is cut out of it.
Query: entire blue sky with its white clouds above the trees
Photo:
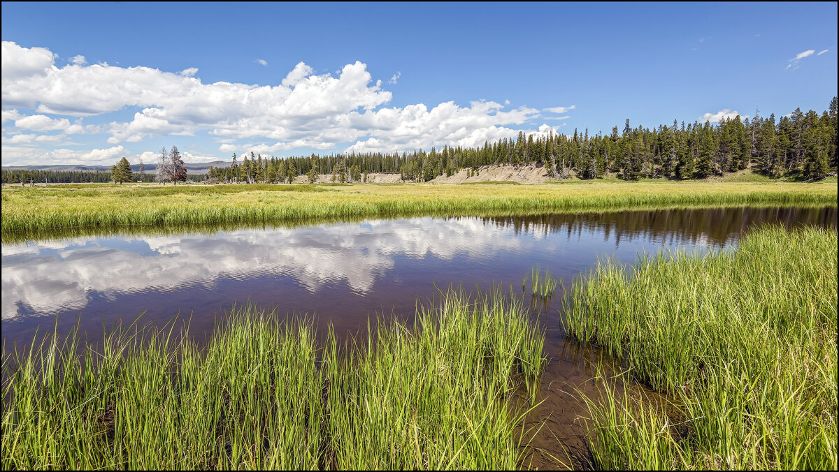
[[[824,111],[836,3],[3,3],[3,165]],[[378,82],[380,81],[380,82]]]

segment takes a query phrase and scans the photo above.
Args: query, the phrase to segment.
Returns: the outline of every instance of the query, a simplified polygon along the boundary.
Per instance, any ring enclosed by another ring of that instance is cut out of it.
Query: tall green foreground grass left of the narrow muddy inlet
[[[205,350],[174,326],[4,358],[3,469],[511,469],[516,392],[533,397],[544,361],[498,293],[450,291],[346,350],[253,307]]]

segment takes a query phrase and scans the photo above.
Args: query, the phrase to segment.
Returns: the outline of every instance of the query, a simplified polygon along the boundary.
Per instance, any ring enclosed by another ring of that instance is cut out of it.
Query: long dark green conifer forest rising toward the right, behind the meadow
[[[755,112],[753,119],[724,118],[710,122],[676,122],[657,128],[612,127],[608,135],[591,136],[586,129],[572,136],[528,135],[484,143],[481,148],[446,146],[413,153],[348,153],[328,156],[274,158],[253,152],[241,162],[234,153],[232,165],[211,168],[211,181],[256,183],[289,182],[298,175],[310,181],[331,174],[332,182],[362,182],[370,173],[400,173],[407,181],[428,181],[451,176],[461,169],[471,174],[483,165],[545,165],[556,178],[576,175],[597,179],[607,174],[620,179],[703,179],[737,172],[752,166],[771,177],[801,176],[821,179],[836,167],[836,97],[829,110],[796,109],[779,120]]]

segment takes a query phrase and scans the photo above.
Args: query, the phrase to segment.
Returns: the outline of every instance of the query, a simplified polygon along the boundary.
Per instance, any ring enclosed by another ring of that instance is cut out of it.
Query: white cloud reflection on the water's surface
[[[139,246],[143,251],[138,250]],[[221,277],[288,275],[310,292],[347,283],[367,293],[397,256],[451,259],[525,242],[477,219],[374,220],[364,224],[241,230],[212,236],[107,236],[3,245],[3,319],[83,309],[88,294],[171,291]]]

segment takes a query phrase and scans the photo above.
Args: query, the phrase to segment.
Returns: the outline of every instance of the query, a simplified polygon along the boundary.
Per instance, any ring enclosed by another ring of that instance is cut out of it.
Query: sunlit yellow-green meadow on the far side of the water
[[[3,234],[67,227],[234,224],[409,215],[732,205],[836,205],[835,184],[55,185],[4,188]]]

